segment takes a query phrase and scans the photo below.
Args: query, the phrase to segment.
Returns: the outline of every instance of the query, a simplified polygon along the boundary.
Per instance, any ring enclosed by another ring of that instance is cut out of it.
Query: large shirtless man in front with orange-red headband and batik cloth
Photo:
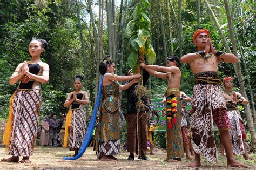
[[[181,63],[190,64],[196,85],[193,89],[190,135],[195,151],[195,159],[189,167],[201,166],[200,154],[211,162],[217,162],[217,148],[214,141],[213,122],[220,130],[227,155],[228,166],[248,167],[235,160],[230,138],[230,122],[220,87],[218,64],[236,63],[237,57],[231,53],[216,51],[207,29],[198,29],[193,35],[193,44],[197,52],[181,57]]]

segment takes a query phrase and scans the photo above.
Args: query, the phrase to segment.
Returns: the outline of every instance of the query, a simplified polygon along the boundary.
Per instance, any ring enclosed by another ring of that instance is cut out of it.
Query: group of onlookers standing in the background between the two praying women
[[[57,119],[56,114],[45,115],[38,126],[39,146],[60,147],[63,146],[65,134],[66,115],[60,114]]]

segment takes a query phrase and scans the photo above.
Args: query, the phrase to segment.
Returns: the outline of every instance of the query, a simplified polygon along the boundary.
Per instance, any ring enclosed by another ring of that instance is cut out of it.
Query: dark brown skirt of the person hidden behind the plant
[[[141,151],[147,151],[147,114],[138,113],[138,132],[137,136],[137,113],[131,113],[126,115],[127,119],[127,145],[128,152],[136,153],[137,155],[142,155]],[[138,139],[139,139],[139,149],[138,152]]]

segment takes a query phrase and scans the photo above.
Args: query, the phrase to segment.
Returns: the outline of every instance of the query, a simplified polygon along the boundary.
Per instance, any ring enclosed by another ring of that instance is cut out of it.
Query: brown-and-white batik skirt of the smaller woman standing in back
[[[73,110],[71,128],[69,130],[69,149],[80,149],[86,134],[86,117],[84,108]]]

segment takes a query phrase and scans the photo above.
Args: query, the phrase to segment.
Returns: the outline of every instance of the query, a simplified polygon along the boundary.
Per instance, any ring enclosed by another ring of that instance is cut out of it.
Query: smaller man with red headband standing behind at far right
[[[232,91],[233,79],[231,77],[223,79],[223,86],[225,87],[224,98],[231,125],[230,135],[232,139],[233,153],[242,154],[245,160],[253,160],[247,153],[245,142],[242,141],[246,139],[245,125],[237,108],[238,104],[248,104],[249,102],[239,92]]]

